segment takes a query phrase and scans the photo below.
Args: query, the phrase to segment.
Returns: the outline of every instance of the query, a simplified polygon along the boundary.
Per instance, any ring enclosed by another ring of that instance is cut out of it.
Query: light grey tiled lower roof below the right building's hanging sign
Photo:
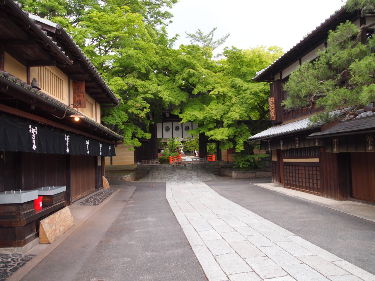
[[[249,141],[255,141],[257,139],[270,138],[273,136],[289,135],[291,133],[311,131],[315,128],[319,128],[320,125],[312,125],[309,118],[294,121],[288,124],[282,124],[279,126],[271,127],[263,132],[260,132],[254,136],[248,138]]]

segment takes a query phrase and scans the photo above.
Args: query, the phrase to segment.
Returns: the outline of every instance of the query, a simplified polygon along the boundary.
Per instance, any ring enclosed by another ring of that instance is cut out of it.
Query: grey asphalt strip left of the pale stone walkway
[[[207,281],[165,183],[129,185],[136,186],[130,195],[123,188],[21,280]]]

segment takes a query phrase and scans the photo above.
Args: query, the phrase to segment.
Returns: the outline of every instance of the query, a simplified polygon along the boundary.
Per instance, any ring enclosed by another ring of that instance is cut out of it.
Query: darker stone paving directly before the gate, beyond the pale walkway
[[[172,166],[162,164],[151,167],[148,175],[140,181],[169,182],[169,181],[213,181],[217,177],[200,164],[186,164],[186,166]]]

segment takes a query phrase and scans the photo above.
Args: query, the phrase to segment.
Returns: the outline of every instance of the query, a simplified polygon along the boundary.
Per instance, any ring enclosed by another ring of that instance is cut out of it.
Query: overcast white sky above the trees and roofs
[[[175,48],[189,44],[185,31],[198,28],[215,39],[230,33],[225,46],[248,49],[257,45],[279,46],[288,51],[307,33],[344,5],[342,0],[180,0],[172,9],[169,37],[180,34]]]

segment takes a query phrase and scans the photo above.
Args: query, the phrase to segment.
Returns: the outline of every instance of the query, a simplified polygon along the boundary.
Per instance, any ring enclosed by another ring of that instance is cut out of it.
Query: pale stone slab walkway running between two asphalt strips
[[[169,181],[166,199],[209,281],[375,281],[204,182]]]

